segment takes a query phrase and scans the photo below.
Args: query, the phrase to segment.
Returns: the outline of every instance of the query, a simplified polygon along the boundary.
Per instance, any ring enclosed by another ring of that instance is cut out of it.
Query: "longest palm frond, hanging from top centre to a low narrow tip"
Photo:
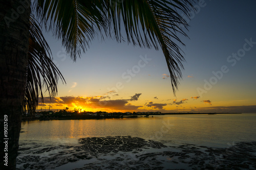
[[[183,1],[159,1],[159,0],[126,0],[105,1],[108,2],[105,13],[109,13],[109,28],[114,30],[117,41],[123,39],[121,28],[125,28],[127,41],[139,46],[158,50],[161,47],[174,94],[182,78],[181,70],[184,57],[179,35],[187,36],[182,28],[187,28],[187,22],[182,13],[188,15],[193,10],[193,2]],[[111,35],[111,33],[110,33]],[[112,35],[111,35],[112,36]]]

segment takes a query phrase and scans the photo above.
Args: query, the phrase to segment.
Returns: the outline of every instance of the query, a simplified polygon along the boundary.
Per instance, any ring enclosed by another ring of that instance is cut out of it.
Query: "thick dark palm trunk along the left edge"
[[[16,168],[28,62],[30,4],[31,0],[0,1],[0,169]]]

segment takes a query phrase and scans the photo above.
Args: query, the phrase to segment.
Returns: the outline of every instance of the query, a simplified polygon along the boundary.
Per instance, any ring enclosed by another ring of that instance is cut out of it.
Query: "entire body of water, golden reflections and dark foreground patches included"
[[[256,114],[34,121],[18,169],[256,169]]]

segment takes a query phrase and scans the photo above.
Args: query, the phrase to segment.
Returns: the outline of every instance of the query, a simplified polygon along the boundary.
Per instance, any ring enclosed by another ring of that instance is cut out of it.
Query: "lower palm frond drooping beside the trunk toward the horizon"
[[[54,97],[58,92],[57,83],[59,78],[62,83],[66,83],[52,61],[50,47],[42,35],[38,24],[35,18],[31,16],[27,84],[23,101],[24,113],[27,110],[29,115],[32,115],[36,109],[39,96],[44,101],[44,88],[46,88],[50,97]]]

